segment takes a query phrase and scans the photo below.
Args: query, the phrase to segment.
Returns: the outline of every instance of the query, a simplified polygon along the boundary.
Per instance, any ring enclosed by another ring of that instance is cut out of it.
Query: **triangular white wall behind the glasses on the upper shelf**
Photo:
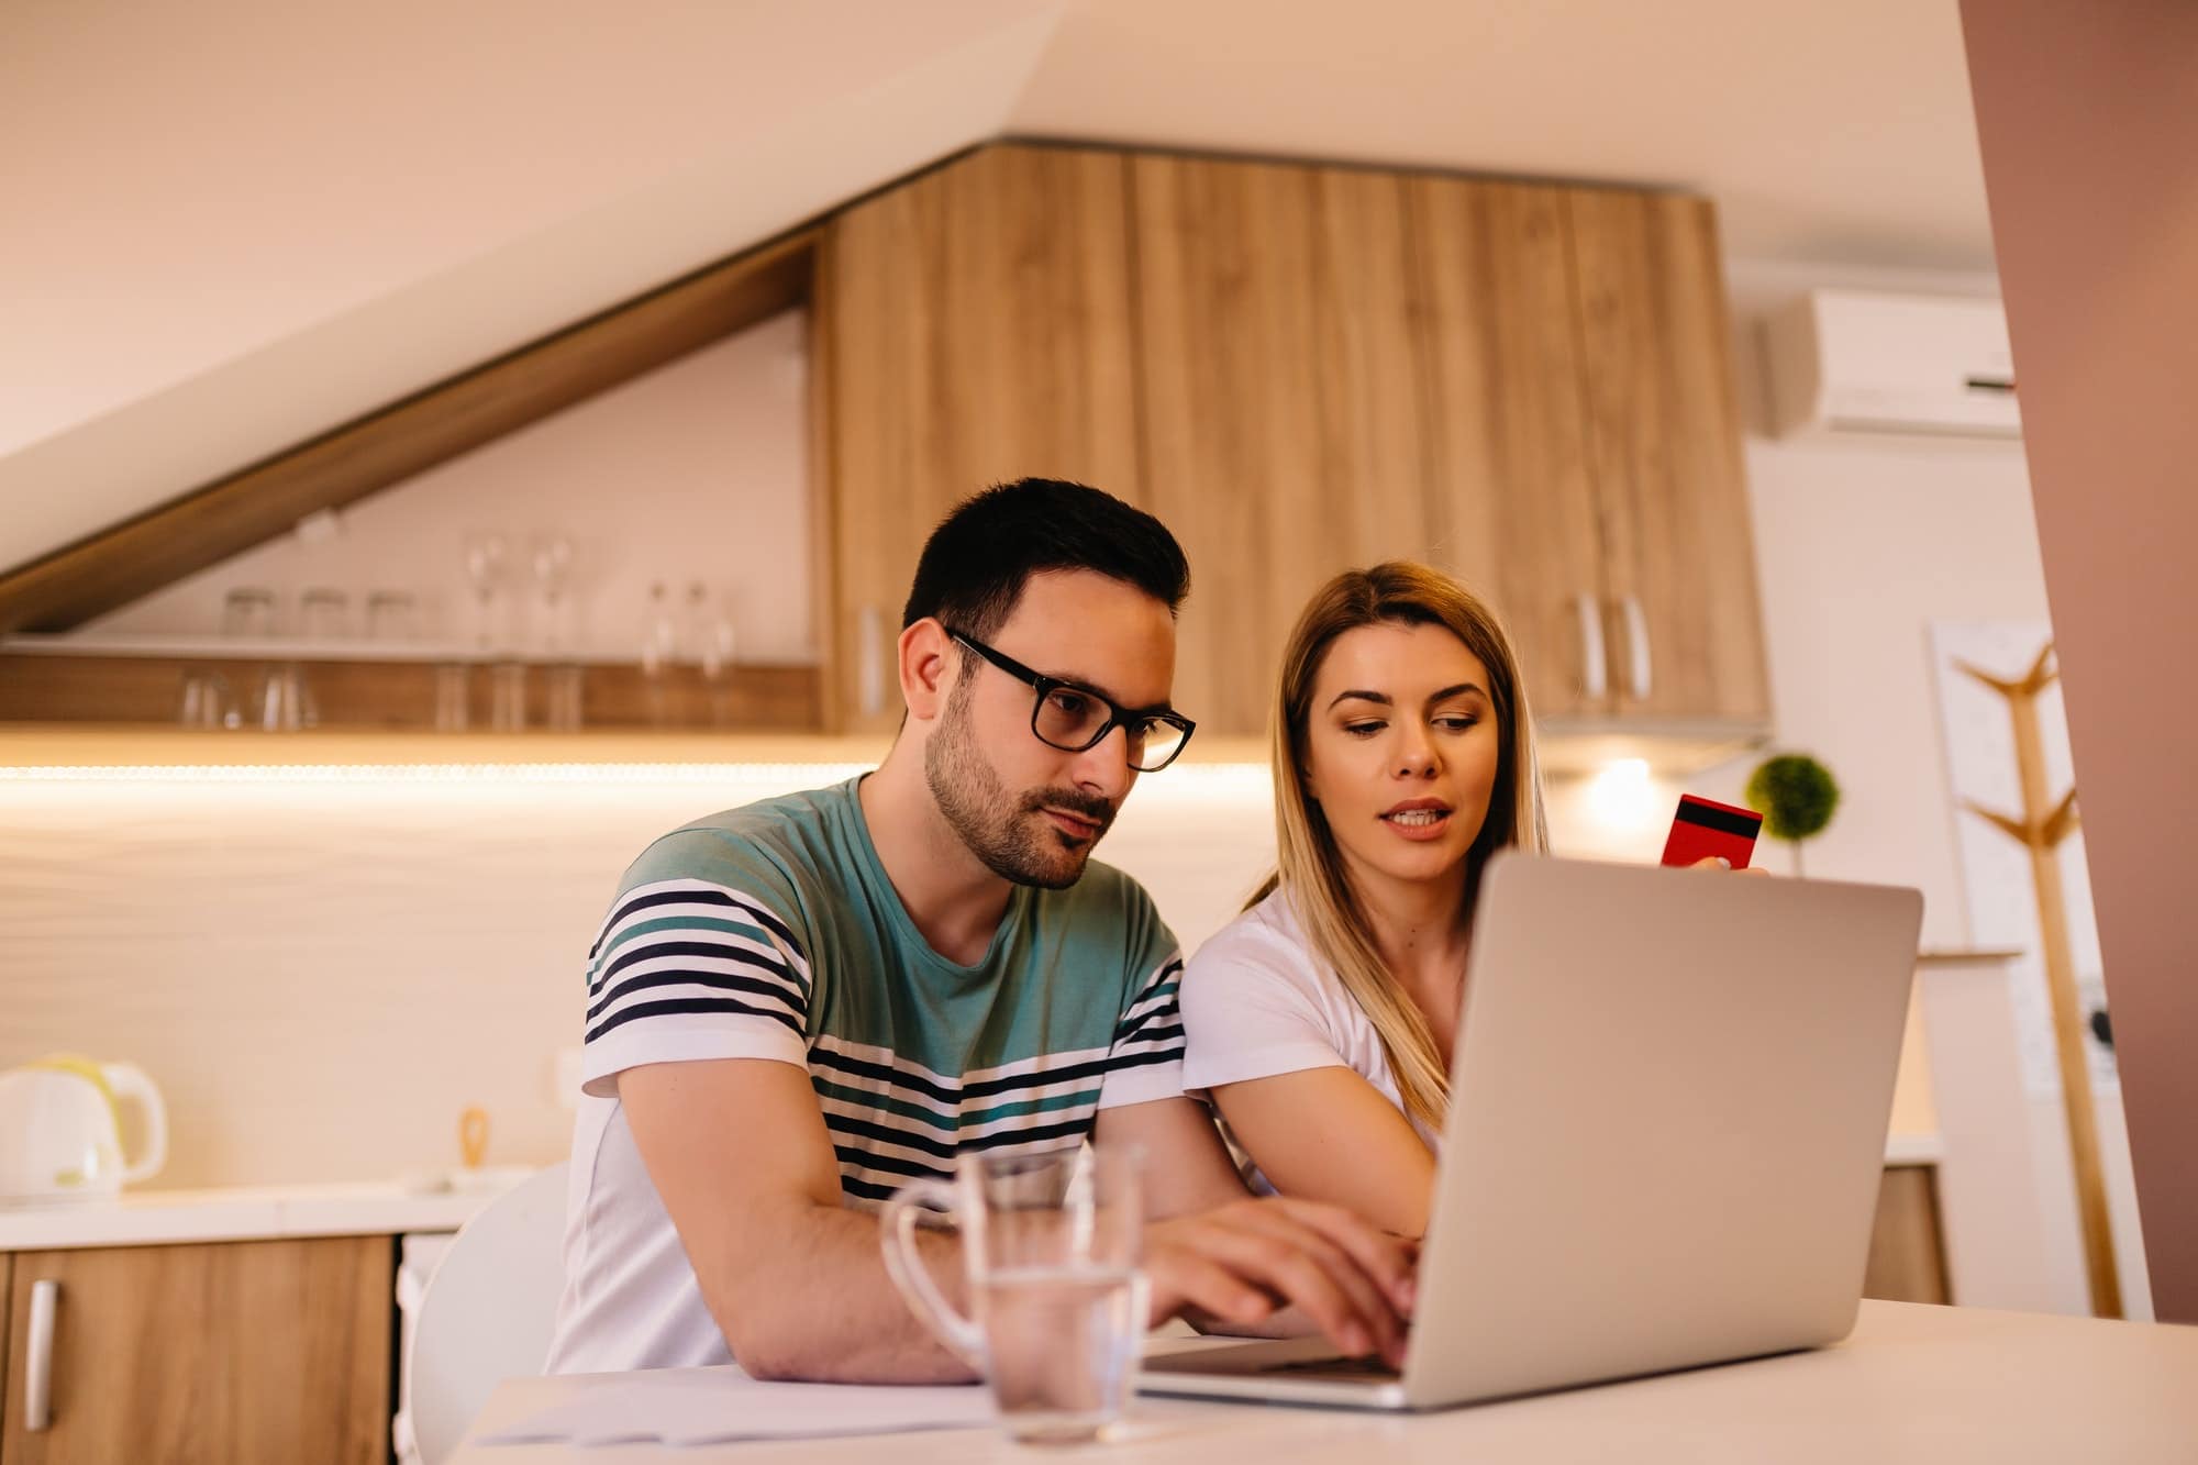
[[[774,317],[360,499],[336,539],[268,541],[90,629],[211,636],[231,587],[264,585],[288,631],[299,594],[332,585],[354,627],[369,592],[409,590],[429,636],[464,640],[477,627],[466,535],[501,530],[517,557],[558,530],[574,541],[580,653],[640,656],[651,585],[684,601],[699,583],[736,612],[741,660],[813,662],[804,323]],[[503,609],[521,612],[528,645],[543,614],[523,574],[517,590]]]

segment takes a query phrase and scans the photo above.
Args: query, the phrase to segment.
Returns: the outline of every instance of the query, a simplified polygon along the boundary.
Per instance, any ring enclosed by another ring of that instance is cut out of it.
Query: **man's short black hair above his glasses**
[[[969,495],[939,521],[923,541],[901,627],[936,616],[985,640],[1046,570],[1095,570],[1136,585],[1169,616],[1191,592],[1183,546],[1143,508],[1084,484],[1020,477]]]

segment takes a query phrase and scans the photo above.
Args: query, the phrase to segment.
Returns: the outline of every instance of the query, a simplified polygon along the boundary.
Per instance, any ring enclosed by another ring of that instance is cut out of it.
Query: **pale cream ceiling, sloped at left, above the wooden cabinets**
[[[9,0],[0,568],[1002,134],[1991,262],[1952,0]]]

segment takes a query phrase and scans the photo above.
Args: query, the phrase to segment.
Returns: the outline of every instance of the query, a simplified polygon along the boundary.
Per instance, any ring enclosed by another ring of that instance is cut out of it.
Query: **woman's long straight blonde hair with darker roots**
[[[1352,893],[1343,853],[1321,816],[1321,805],[1306,792],[1312,682],[1334,640],[1365,625],[1440,625],[1488,669],[1488,697],[1495,702],[1499,732],[1497,779],[1488,792],[1488,818],[1466,851],[1466,908],[1473,908],[1481,869],[1497,849],[1519,845],[1539,853],[1550,847],[1525,682],[1519,678],[1519,662],[1497,614],[1470,590],[1427,565],[1389,561],[1372,570],[1345,570],[1312,596],[1281,653],[1281,678],[1275,684],[1268,726],[1275,765],[1275,873],[1246,908],[1281,886],[1314,955],[1336,970],[1343,988],[1380,1034],[1389,1071],[1405,1098],[1405,1113],[1440,1131],[1451,1078],[1442,1067],[1435,1032],[1389,977],[1365,911]]]

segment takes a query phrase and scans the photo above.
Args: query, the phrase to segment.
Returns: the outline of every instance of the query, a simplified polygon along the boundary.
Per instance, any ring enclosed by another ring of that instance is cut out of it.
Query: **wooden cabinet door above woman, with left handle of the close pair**
[[[1495,605],[1543,719],[1609,711],[1565,194],[1411,178],[1433,563]],[[1598,691],[1598,682],[1605,691]]]

